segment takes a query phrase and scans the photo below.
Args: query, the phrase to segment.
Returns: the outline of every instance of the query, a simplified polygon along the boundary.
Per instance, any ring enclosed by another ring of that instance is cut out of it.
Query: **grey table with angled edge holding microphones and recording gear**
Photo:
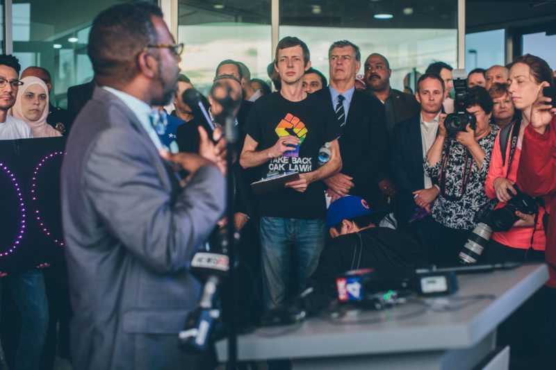
[[[496,328],[548,280],[548,269],[528,264],[458,280],[458,292],[427,303],[436,309],[467,304],[459,310],[438,312],[412,303],[360,317],[381,319],[375,323],[334,325],[313,317],[297,326],[259,328],[238,337],[238,360],[290,358],[293,369],[472,369],[496,355]],[[477,295],[491,298],[466,299]],[[225,339],[216,350],[226,361]],[[502,365],[489,369],[507,368],[507,348],[503,352],[497,360]]]

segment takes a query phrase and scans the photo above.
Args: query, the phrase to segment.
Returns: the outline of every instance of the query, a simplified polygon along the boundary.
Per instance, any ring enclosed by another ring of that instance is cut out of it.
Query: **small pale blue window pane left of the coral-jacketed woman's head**
[[[505,65],[505,31],[468,33],[465,35],[465,52],[467,72],[475,68]]]

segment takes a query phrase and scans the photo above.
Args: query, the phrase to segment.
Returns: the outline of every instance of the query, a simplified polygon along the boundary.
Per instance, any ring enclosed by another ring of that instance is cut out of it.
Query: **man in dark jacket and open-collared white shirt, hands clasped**
[[[423,158],[438,131],[444,81],[436,74],[423,74],[416,89],[420,112],[395,126],[390,153],[391,173],[398,187],[395,216],[400,227],[430,214],[439,194],[436,179],[423,171]]]

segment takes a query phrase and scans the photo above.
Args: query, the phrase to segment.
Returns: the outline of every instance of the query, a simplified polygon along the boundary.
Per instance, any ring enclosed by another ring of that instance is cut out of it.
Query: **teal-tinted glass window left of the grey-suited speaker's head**
[[[13,54],[19,58],[22,70],[31,65],[48,69],[55,106],[66,106],[67,87],[91,80],[93,72],[87,56],[90,24],[101,10],[120,2],[13,1]]]

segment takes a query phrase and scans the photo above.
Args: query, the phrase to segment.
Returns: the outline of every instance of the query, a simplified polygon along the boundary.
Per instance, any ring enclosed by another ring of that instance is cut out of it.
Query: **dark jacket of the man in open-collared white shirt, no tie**
[[[396,219],[407,222],[414,215],[416,208],[412,193],[425,187],[423,140],[419,115],[395,126],[390,151],[390,168],[392,178],[398,187]]]

